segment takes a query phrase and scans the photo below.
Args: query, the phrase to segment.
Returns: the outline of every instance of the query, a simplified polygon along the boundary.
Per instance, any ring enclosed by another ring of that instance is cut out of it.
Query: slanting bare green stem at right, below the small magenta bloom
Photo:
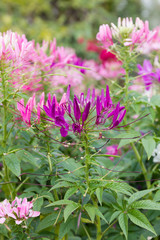
[[[142,172],[143,172],[143,175],[144,175],[144,179],[146,180],[146,185],[147,185],[147,188],[150,189],[151,188],[151,183],[150,181],[148,181],[148,177],[147,177],[147,169],[142,161],[142,158],[136,148],[136,146],[134,145],[134,143],[131,143],[131,146],[133,148],[133,151],[136,155],[136,158],[137,158],[137,161],[139,162],[140,166],[141,166],[141,169],[142,169]]]

